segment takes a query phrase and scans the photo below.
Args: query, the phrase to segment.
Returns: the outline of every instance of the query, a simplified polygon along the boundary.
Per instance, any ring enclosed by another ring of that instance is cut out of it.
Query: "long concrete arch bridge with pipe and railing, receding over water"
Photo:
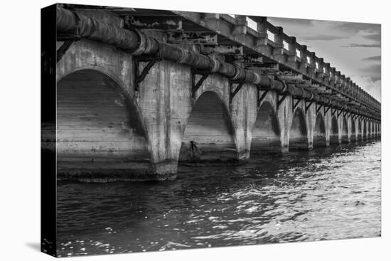
[[[266,17],[46,12],[57,31],[56,58],[43,60],[56,68],[60,179],[171,180],[181,161],[380,137],[380,102]]]

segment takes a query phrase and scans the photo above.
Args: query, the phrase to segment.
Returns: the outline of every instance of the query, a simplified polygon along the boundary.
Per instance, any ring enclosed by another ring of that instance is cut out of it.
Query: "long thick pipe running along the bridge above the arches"
[[[252,70],[245,70],[193,50],[160,42],[136,29],[127,30],[112,26],[59,6],[57,6],[56,17],[57,30],[59,32],[70,33],[77,30],[78,35],[82,38],[115,46],[132,55],[156,56],[164,60],[190,65],[208,73],[218,73],[230,80],[242,81],[269,90],[284,92],[284,94],[313,100],[323,105],[333,105],[338,107],[338,109],[346,109],[346,106],[341,104],[341,102],[333,101],[329,97],[316,95],[309,90],[304,90],[294,85],[286,86],[282,81],[272,80],[268,76],[260,75]]]

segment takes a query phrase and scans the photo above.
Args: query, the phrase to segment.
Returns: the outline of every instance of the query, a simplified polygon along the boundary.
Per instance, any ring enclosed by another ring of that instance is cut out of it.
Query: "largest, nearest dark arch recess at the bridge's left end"
[[[59,174],[134,179],[150,170],[138,108],[100,71],[77,70],[58,81],[57,126]]]

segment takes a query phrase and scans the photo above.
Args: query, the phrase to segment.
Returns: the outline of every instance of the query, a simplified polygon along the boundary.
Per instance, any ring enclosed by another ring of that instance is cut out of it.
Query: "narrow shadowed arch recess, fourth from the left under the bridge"
[[[306,117],[303,110],[297,108],[294,111],[291,129],[289,130],[289,150],[308,148]]]

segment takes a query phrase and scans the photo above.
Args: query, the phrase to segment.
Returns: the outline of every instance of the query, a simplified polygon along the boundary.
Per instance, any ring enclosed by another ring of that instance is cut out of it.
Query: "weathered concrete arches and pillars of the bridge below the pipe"
[[[80,40],[58,62],[58,172],[67,179],[175,179],[178,161],[237,161],[257,154],[377,137],[380,124],[209,75],[192,94],[191,68],[157,62],[136,91],[132,55]],[[141,63],[142,70],[146,63]],[[198,75],[195,82],[200,78]],[[234,87],[237,85],[234,84]],[[191,149],[195,142],[197,149]]]

